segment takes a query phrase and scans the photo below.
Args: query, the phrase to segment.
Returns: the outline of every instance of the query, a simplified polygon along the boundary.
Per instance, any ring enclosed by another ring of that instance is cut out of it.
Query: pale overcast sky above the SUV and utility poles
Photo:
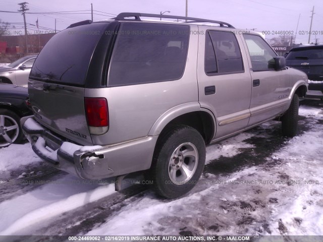
[[[23,1],[1,0],[0,11],[17,12],[20,7],[18,3],[21,2]],[[185,16],[185,0],[28,0],[28,3],[29,11],[26,13],[83,11],[78,12],[78,14],[26,14],[28,24],[35,25],[38,18],[39,30],[41,31],[55,29],[55,19],[57,20],[57,30],[63,30],[75,22],[91,19],[91,3],[93,4],[94,21],[109,19],[110,16],[115,16],[121,12],[159,14],[160,11],[171,11],[171,15]],[[292,34],[295,35],[300,14],[296,43],[307,43],[308,33],[305,31],[309,31],[313,6],[315,6],[315,14],[312,31],[316,32],[316,36],[312,34],[310,41],[315,42],[315,38],[317,38],[319,42],[323,42],[322,0],[188,0],[188,16],[220,20],[240,29],[256,29],[256,31],[268,32],[293,31]],[[21,24],[23,23],[23,16],[21,14],[0,12],[0,19],[12,23],[11,26],[16,27],[16,29],[11,28],[9,34],[17,33],[18,30],[23,31],[22,34],[24,34],[24,30],[21,29],[23,27]],[[14,32],[15,30],[16,32]],[[36,30],[35,26],[28,25],[29,33],[34,34]],[[272,37],[274,36],[268,34],[265,36],[266,39]]]

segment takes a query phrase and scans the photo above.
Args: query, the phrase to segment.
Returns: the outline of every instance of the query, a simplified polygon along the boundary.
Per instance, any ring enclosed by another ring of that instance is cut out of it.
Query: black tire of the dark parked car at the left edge
[[[20,143],[24,135],[22,133],[22,129],[20,126],[20,117],[13,111],[7,110],[7,109],[0,109],[0,124],[1,124],[1,118],[4,118],[5,120],[5,127],[13,127],[18,126],[18,128],[11,130],[11,131],[4,131],[0,126],[0,147],[6,147],[9,146],[11,143]],[[6,134],[8,137],[12,139],[12,142],[6,141],[3,134]]]

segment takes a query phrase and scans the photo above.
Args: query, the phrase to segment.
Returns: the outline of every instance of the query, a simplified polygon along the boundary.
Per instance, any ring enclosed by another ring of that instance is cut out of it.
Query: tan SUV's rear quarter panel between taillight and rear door
[[[197,26],[191,25],[190,31],[198,31]],[[167,116],[170,109],[173,109],[172,115],[175,118],[182,114],[182,104],[198,104],[197,44],[198,35],[190,34],[185,71],[179,80],[110,88],[86,88],[85,97],[104,97],[109,107],[109,131],[100,136],[92,135],[93,144],[115,144],[145,137],[156,120],[163,120],[163,116]],[[159,127],[166,125],[165,123]]]

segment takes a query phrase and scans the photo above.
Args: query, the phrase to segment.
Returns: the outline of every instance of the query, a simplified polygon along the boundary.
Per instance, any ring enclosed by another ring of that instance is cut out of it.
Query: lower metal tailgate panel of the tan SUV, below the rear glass
[[[29,80],[28,91],[39,123],[78,144],[92,145],[84,110],[84,88]]]

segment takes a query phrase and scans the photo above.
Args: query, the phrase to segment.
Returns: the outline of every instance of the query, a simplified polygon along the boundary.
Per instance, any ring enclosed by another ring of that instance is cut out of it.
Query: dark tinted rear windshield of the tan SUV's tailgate
[[[81,25],[54,35],[40,51],[30,78],[84,86],[92,53],[106,26],[106,23]]]

